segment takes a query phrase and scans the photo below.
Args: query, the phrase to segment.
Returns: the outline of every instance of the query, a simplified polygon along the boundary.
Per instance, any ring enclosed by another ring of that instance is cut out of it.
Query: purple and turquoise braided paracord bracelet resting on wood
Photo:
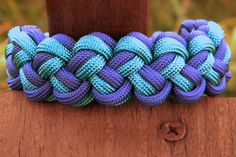
[[[7,82],[34,101],[117,106],[132,95],[153,106],[173,97],[193,103],[221,94],[232,77],[230,48],[215,22],[186,20],[179,33],[132,32],[118,42],[94,32],[73,40],[35,26],[11,29]]]

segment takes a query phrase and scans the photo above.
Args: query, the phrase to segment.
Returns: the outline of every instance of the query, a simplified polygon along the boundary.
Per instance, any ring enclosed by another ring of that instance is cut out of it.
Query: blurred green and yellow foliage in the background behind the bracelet
[[[0,90],[7,89],[4,49],[8,29],[15,25],[33,24],[47,31],[44,0],[0,0]],[[236,73],[236,1],[235,0],[151,0],[152,31],[177,31],[187,19],[219,22],[232,50],[231,70]],[[236,78],[229,81],[225,96],[236,96]]]

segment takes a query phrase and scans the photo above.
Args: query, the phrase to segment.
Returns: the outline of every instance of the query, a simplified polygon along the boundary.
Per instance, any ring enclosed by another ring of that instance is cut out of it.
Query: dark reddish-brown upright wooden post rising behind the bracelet
[[[147,0],[46,0],[50,34],[79,39],[94,31],[118,40],[132,31],[148,32]]]

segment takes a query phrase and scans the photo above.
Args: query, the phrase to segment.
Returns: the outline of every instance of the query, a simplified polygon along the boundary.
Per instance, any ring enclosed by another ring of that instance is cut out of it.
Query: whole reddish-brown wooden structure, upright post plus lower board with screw
[[[147,0],[47,0],[49,31],[75,39],[101,31],[119,39],[148,33]],[[179,124],[178,124],[179,123]],[[233,157],[236,98],[204,97],[196,104],[147,108],[84,108],[28,101],[0,92],[0,156]]]

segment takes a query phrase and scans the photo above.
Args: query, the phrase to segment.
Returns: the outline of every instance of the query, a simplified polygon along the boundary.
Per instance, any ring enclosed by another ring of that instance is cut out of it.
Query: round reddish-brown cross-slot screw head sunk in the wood
[[[176,142],[185,137],[186,126],[180,121],[163,122],[160,132],[166,141]]]

